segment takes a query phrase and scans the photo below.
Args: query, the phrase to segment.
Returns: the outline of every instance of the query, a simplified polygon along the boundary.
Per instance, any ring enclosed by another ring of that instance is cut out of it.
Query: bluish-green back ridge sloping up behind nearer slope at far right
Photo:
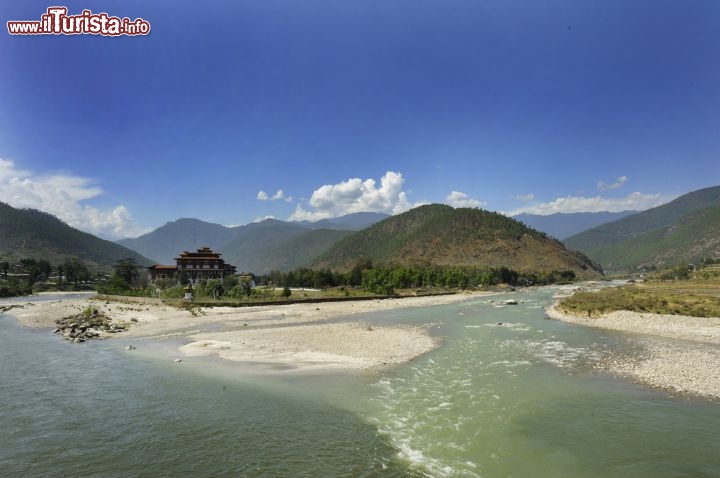
[[[680,196],[662,206],[626,216],[576,234],[563,241],[569,248],[596,259],[598,250],[640,236],[655,229],[670,227],[695,211],[720,205],[720,186],[700,189]]]

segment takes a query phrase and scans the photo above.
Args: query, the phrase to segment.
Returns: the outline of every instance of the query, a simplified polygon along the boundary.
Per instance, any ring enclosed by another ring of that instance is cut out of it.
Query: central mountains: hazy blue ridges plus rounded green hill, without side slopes
[[[598,267],[557,240],[498,213],[430,205],[397,216],[360,213],[318,222],[277,219],[237,227],[179,219],[121,244],[172,264],[182,250],[207,245],[239,271],[298,267],[346,270],[360,259],[378,263],[506,266],[519,271]]]

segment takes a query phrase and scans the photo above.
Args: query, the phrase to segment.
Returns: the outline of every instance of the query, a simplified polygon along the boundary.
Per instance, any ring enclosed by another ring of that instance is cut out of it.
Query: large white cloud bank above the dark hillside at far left
[[[38,176],[0,158],[0,201],[16,208],[32,208],[53,214],[72,227],[107,238],[134,237],[141,228],[124,205],[101,210],[83,201],[103,193],[92,180],[68,174]]]

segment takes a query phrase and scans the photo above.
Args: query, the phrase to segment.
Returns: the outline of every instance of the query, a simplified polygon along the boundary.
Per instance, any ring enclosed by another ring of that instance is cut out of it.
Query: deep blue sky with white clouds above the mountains
[[[54,5],[6,3],[3,22]],[[720,184],[715,0],[63,5],[152,30],[2,35],[0,201],[104,237]]]

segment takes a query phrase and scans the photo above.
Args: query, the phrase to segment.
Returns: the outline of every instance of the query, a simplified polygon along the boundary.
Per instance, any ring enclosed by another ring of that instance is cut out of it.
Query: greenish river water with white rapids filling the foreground
[[[720,476],[720,403],[595,371],[632,344],[547,320],[552,294],[369,314],[443,345],[351,373],[174,363],[173,344],[70,344],[0,316],[0,475]]]

